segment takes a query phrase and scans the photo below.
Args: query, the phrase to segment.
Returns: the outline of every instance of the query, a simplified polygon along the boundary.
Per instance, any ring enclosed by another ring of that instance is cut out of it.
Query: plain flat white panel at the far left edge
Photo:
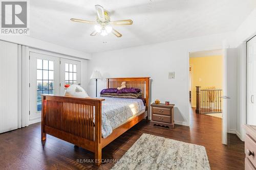
[[[0,133],[18,127],[18,46],[0,41]]]

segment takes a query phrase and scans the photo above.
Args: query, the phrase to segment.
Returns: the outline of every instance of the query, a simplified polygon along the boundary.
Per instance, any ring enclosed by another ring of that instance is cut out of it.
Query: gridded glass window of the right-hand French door
[[[65,84],[77,84],[76,64],[65,63]]]

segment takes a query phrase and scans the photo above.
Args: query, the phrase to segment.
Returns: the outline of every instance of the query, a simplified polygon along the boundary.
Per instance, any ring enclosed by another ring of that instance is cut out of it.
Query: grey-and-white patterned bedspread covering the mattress
[[[145,111],[141,99],[102,98],[101,132],[108,137],[114,129]]]

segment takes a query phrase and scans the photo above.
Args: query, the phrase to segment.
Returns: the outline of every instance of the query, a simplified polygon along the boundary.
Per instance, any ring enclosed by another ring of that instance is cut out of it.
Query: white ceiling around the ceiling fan
[[[95,20],[96,4],[110,12],[111,20],[132,19],[133,25],[114,27],[121,38],[92,37],[93,25],[70,21]],[[30,37],[97,53],[235,31],[255,7],[255,0],[32,0]]]

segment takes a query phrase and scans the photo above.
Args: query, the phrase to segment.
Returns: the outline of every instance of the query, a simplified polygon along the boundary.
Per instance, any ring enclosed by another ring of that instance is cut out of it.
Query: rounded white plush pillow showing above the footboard
[[[64,93],[65,96],[72,96],[77,98],[90,98],[86,90],[76,84],[70,85]]]

